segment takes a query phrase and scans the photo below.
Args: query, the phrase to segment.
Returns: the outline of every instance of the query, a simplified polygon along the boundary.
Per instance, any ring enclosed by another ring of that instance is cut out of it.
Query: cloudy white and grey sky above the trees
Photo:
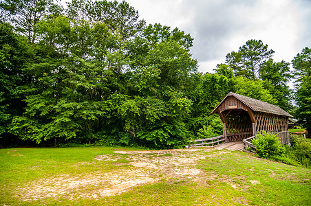
[[[126,0],[147,23],[191,34],[199,71],[212,72],[226,54],[250,39],[290,62],[311,47],[311,0]]]

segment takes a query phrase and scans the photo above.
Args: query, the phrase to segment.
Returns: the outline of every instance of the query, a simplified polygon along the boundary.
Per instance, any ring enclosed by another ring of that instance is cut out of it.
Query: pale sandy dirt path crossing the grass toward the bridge
[[[211,152],[206,155],[206,152]],[[113,172],[94,172],[85,176],[57,176],[41,179],[19,188],[17,196],[23,201],[42,198],[100,198],[118,195],[138,185],[168,181],[206,181],[215,176],[197,169],[197,161],[219,155],[227,150],[215,148],[191,148],[184,150],[118,150],[114,154],[99,155],[94,161],[116,161]],[[120,161],[121,160],[121,161]],[[122,163],[125,162],[125,163]],[[129,165],[129,167],[118,167]],[[121,168],[121,169],[120,169]]]

